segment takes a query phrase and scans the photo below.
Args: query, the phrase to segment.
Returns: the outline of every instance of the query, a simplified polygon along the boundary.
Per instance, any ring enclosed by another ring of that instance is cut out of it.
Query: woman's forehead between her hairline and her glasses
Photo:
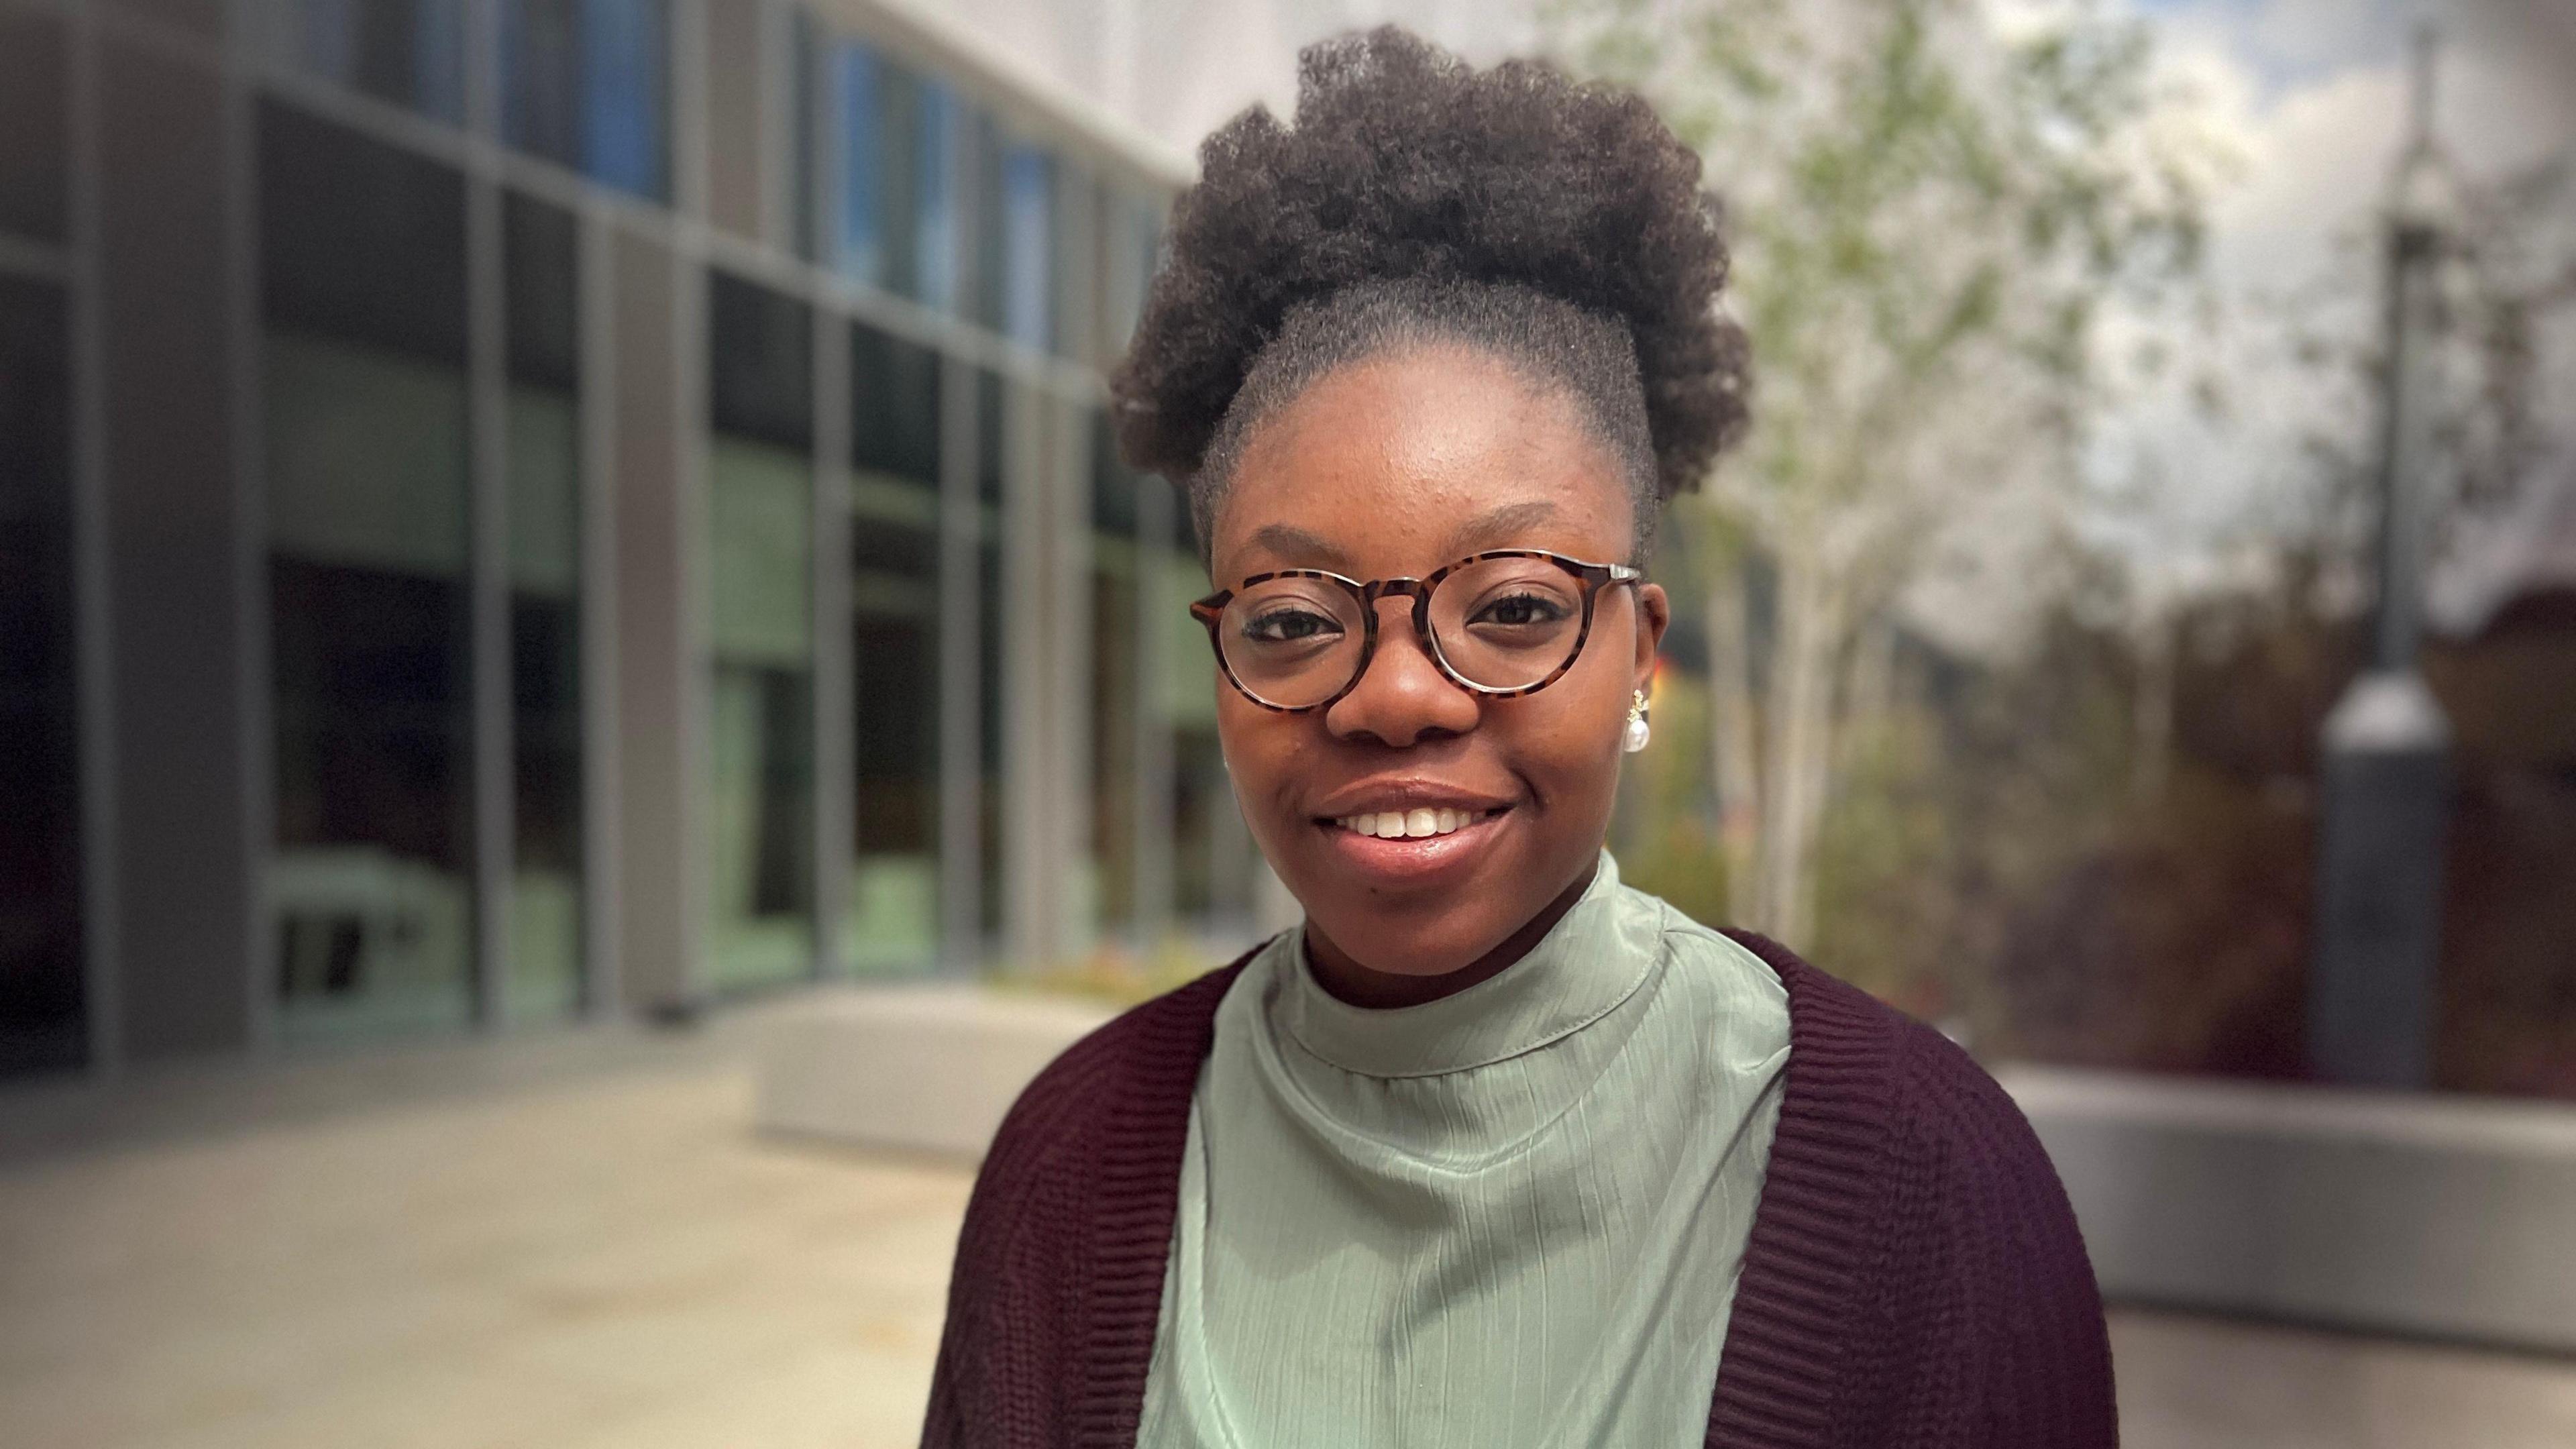
[[[1216,505],[1211,565],[1425,575],[1543,547],[1620,559],[1636,529],[1610,451],[1571,397],[1461,345],[1334,369],[1255,425]]]

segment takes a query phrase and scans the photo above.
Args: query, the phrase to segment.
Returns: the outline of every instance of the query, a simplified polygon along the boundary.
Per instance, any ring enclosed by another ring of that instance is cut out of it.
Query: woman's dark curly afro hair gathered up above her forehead
[[[1744,428],[1718,206],[1633,93],[1386,26],[1298,57],[1293,129],[1255,106],[1198,157],[1110,394],[1200,549],[1249,420],[1394,340],[1481,343],[1571,392],[1631,472],[1638,547]]]

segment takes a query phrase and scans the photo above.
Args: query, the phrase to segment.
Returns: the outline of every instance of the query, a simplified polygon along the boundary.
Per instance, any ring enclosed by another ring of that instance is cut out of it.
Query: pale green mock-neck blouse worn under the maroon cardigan
[[[1607,851],[1425,1006],[1285,931],[1216,1008],[1139,1444],[1700,1444],[1785,1062],[1780,977]]]

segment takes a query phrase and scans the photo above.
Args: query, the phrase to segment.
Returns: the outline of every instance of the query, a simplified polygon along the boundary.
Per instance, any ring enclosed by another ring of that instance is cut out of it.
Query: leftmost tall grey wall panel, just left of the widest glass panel
[[[113,616],[121,1039],[131,1057],[250,1039],[252,812],[234,474],[224,88],[100,44],[100,364]]]

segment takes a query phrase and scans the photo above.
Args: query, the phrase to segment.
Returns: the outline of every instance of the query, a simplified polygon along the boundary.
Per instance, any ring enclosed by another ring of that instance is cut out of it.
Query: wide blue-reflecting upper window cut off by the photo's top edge
[[[670,193],[667,0],[505,0],[500,70],[513,147]]]

